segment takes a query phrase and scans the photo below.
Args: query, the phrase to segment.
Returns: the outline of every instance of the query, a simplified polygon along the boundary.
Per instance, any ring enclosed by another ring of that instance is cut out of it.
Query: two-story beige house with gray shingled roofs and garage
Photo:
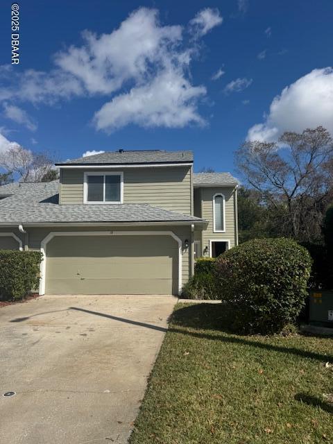
[[[41,250],[40,294],[179,294],[195,257],[237,244],[237,180],[191,151],[112,151],[60,180],[0,187],[0,249]]]

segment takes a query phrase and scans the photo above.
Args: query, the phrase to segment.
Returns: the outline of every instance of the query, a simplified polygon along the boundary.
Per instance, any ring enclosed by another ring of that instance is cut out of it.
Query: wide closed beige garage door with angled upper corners
[[[177,294],[170,236],[56,236],[46,247],[46,293]]]

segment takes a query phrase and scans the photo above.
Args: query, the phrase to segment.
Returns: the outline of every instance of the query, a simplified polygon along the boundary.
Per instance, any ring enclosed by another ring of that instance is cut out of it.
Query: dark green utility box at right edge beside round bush
[[[325,323],[333,328],[333,291],[311,291],[309,322]]]

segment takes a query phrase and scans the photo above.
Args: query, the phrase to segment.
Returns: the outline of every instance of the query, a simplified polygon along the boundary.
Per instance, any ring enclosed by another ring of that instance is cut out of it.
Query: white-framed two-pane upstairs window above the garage
[[[85,203],[123,203],[123,173],[85,173]]]

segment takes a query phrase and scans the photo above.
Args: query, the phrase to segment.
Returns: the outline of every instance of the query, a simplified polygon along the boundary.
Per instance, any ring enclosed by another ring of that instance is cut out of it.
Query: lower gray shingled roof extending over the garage
[[[58,205],[58,180],[22,183],[16,192],[0,200],[0,225],[82,222],[200,222],[202,219],[152,207],[148,204]],[[14,188],[4,185],[3,189]],[[7,191],[6,191],[7,193]],[[2,194],[6,194],[3,193]]]

